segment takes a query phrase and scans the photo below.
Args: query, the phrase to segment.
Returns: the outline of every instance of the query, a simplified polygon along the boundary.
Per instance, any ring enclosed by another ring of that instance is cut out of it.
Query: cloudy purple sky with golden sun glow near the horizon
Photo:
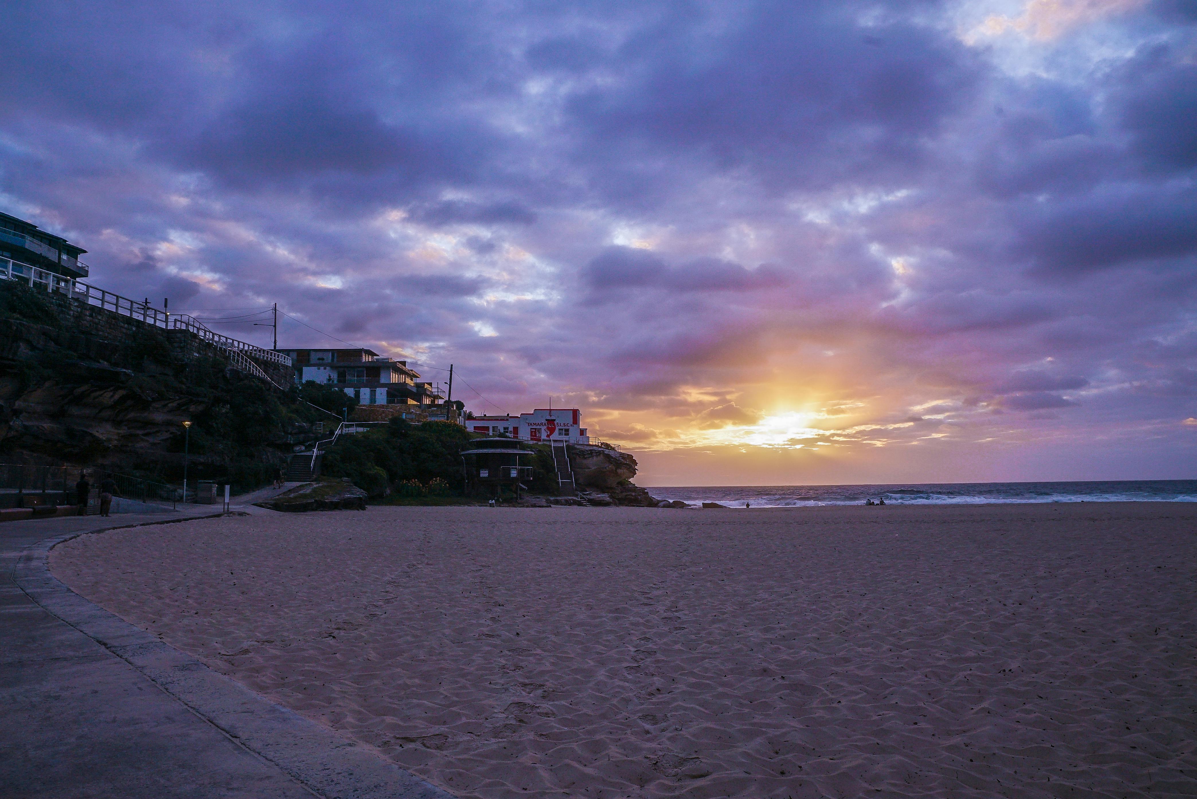
[[[1197,477],[1191,0],[17,1],[0,74],[92,285],[642,484]]]

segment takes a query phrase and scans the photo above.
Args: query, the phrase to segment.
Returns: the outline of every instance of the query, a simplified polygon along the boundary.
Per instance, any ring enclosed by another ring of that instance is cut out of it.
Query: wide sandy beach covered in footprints
[[[461,797],[1191,797],[1197,506],[371,508],[83,596]]]

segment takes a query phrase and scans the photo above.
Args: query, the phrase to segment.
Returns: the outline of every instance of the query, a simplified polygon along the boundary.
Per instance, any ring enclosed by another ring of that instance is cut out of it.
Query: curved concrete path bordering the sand
[[[47,566],[80,533],[212,510],[0,526],[0,797],[452,799],[121,621]]]

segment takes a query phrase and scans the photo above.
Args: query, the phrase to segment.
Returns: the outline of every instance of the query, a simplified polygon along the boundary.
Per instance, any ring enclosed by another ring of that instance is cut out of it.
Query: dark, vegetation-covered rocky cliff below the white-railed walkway
[[[0,281],[0,459],[268,481],[320,411],[177,334]]]

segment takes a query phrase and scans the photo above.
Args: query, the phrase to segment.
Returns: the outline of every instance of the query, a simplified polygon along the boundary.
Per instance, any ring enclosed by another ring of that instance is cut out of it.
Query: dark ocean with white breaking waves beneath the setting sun
[[[863,505],[991,505],[1025,502],[1197,502],[1197,480],[1119,480],[1058,483],[895,483],[892,486],[646,487],[663,500],[730,507]]]

